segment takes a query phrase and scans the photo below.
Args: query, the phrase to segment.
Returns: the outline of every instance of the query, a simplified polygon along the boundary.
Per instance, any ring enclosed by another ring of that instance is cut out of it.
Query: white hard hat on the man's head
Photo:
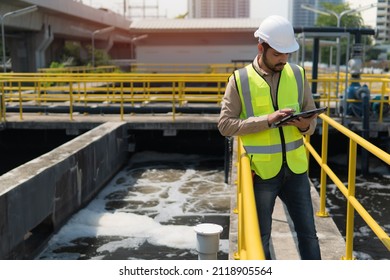
[[[292,53],[299,49],[294,28],[282,16],[274,15],[264,19],[254,35],[280,53]]]

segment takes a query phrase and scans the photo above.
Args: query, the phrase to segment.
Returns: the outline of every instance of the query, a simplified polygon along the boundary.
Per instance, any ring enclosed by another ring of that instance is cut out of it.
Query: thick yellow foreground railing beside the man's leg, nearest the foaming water
[[[238,244],[234,258],[238,260],[265,260],[257,220],[256,202],[250,160],[238,137],[237,143],[237,208]]]

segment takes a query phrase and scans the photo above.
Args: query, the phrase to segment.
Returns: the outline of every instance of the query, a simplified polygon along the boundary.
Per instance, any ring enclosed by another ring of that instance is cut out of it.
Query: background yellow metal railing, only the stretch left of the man
[[[0,119],[7,104],[17,104],[23,119],[23,106],[53,103],[66,103],[71,120],[80,104],[116,104],[123,120],[124,106],[168,103],[175,119],[176,108],[189,103],[219,106],[226,82],[226,74],[7,73],[0,75]]]

